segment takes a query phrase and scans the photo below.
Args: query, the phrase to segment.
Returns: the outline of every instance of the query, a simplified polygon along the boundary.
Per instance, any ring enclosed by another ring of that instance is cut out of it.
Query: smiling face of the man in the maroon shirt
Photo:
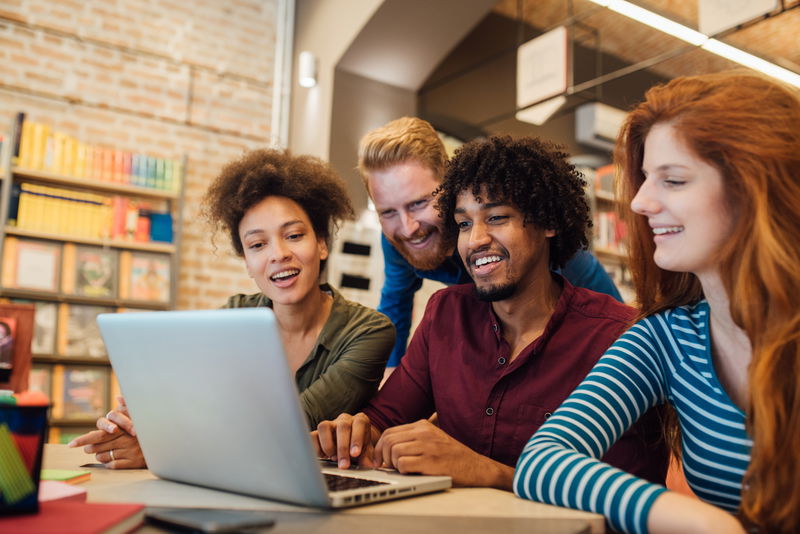
[[[456,199],[458,253],[478,297],[494,302],[549,276],[547,239],[555,232],[525,224],[523,214],[508,203],[487,199],[483,193],[481,199],[471,191]]]

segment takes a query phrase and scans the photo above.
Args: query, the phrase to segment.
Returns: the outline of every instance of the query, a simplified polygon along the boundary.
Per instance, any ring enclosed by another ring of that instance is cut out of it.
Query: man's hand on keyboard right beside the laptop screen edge
[[[343,413],[333,421],[322,421],[311,439],[320,458],[329,458],[341,469],[350,467],[350,459],[358,459],[358,465],[376,467],[373,460],[375,442],[380,432],[372,427],[369,417],[363,413]]]

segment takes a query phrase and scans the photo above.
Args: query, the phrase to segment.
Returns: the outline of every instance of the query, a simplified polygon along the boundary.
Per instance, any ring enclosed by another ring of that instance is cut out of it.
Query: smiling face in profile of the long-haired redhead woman
[[[670,124],[656,124],[644,143],[645,180],[631,201],[653,229],[656,265],[702,275],[731,235],[733,217],[722,175],[699,159]]]

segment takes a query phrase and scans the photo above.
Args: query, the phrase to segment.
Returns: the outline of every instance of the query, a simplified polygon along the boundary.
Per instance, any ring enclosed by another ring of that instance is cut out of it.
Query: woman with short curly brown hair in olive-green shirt
[[[378,388],[394,344],[382,314],[320,285],[331,231],[353,210],[336,173],[310,156],[256,150],[227,165],[206,193],[204,212],[225,232],[260,289],[225,307],[275,312],[309,426],[357,412]],[[70,443],[111,468],[144,467],[124,400],[98,430]]]

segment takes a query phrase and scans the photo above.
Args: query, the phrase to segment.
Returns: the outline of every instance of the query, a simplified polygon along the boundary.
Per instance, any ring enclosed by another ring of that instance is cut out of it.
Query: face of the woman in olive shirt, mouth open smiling
[[[275,304],[302,302],[319,291],[320,260],[328,257],[300,205],[286,197],[267,197],[239,223],[247,272]]]

